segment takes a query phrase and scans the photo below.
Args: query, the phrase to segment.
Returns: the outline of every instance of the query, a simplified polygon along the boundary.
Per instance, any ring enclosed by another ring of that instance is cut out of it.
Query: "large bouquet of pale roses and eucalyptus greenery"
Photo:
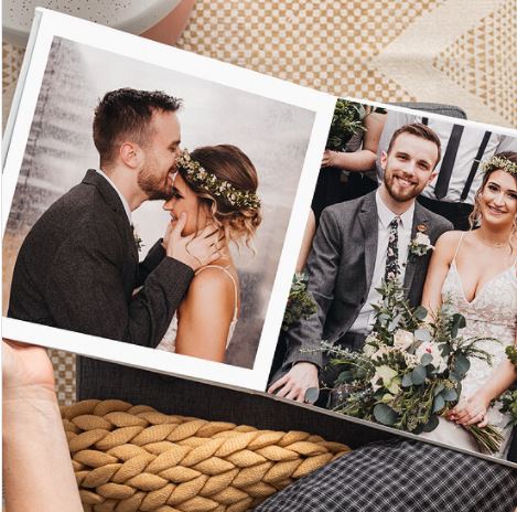
[[[334,410],[414,434],[431,431],[457,404],[470,359],[492,364],[476,348],[485,338],[462,337],[465,319],[448,302],[430,319],[426,308],[410,308],[397,280],[379,291],[383,300],[362,352],[323,343],[330,364],[341,370]],[[502,437],[494,427],[468,430],[483,450],[498,449]]]

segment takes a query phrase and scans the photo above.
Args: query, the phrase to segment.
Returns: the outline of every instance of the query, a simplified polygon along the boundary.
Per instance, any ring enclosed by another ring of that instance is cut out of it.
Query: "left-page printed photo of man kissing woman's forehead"
[[[133,364],[263,390],[317,113],[295,90],[176,67],[52,39],[9,198],[4,316],[152,350]],[[85,393],[104,364],[78,359]]]

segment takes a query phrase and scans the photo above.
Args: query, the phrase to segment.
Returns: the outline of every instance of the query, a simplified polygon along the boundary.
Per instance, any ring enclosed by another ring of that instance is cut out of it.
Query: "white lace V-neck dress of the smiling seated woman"
[[[463,239],[463,236],[462,236]],[[461,245],[461,241],[460,241]],[[460,245],[457,249],[460,248]],[[456,255],[457,255],[456,249]],[[515,341],[517,328],[517,276],[516,262],[506,270],[497,274],[477,291],[471,300],[466,300],[464,288],[456,267],[456,256],[449,268],[442,288],[442,298],[452,300],[454,310],[465,317],[466,327],[461,331],[465,338],[482,335],[497,339],[499,343],[483,340],[477,343],[493,356],[492,366],[478,359],[471,359],[471,367],[462,381],[462,398],[468,398],[477,390],[483,387],[491,377],[494,369],[506,358],[505,349]],[[511,436],[511,427],[508,427],[509,415],[500,413],[500,402],[488,408],[489,423],[498,427],[505,440],[497,457],[505,457]],[[431,433],[422,434],[427,439],[453,445],[467,450],[480,451],[474,438],[461,425],[440,417],[440,424]]]

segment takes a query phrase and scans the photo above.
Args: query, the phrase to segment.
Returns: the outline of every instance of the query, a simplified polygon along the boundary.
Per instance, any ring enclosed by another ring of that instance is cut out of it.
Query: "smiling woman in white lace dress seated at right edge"
[[[484,166],[468,232],[448,232],[437,242],[422,303],[435,312],[442,299],[466,319],[463,335],[491,337],[477,344],[493,356],[492,366],[473,359],[462,382],[460,403],[439,427],[422,434],[460,448],[480,451],[463,426],[498,427],[505,440],[496,454],[504,457],[511,428],[496,399],[517,378],[505,348],[516,343],[517,327],[517,153],[499,153]]]

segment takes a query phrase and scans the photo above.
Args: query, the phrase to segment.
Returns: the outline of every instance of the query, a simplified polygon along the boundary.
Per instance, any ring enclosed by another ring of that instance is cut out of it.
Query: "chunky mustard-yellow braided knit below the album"
[[[62,408],[87,512],[240,512],[347,454],[302,431],[165,415],[121,401]]]

